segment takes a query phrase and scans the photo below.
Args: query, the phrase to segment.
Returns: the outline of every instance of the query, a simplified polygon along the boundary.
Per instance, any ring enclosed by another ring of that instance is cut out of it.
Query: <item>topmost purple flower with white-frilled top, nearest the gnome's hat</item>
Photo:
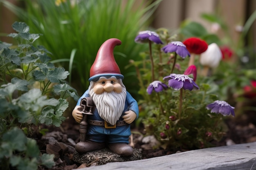
[[[156,44],[163,44],[159,38],[159,35],[154,31],[141,31],[135,38],[135,42],[144,43],[148,40],[155,42]]]

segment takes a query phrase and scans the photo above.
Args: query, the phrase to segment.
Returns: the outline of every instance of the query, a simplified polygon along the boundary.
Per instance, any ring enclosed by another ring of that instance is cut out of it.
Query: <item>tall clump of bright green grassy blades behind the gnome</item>
[[[133,38],[137,31],[150,24],[150,16],[161,0],[24,0],[25,9],[7,0],[1,2],[23,21],[31,31],[42,33],[38,40],[56,62],[72,73],[72,82],[81,89],[89,86],[89,72],[101,44],[109,38],[118,38],[121,46],[115,48],[115,60],[126,77],[124,84],[137,95],[134,68],[124,69],[129,60],[139,60]],[[71,55],[72,51],[74,52]],[[69,62],[69,63],[67,63]]]

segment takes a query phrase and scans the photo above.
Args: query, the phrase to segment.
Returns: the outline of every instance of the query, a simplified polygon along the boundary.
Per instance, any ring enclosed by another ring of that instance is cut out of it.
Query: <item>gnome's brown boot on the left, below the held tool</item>
[[[105,148],[105,143],[98,143],[94,141],[85,141],[85,142],[78,142],[75,146],[76,151],[79,153],[86,153],[93,150],[100,150]]]

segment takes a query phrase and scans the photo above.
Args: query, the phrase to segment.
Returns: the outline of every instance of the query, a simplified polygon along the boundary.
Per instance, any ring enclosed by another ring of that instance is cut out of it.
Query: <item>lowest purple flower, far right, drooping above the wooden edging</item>
[[[223,116],[232,115],[235,116],[234,107],[230,106],[228,102],[216,100],[206,107],[211,110],[211,113],[222,114]]]

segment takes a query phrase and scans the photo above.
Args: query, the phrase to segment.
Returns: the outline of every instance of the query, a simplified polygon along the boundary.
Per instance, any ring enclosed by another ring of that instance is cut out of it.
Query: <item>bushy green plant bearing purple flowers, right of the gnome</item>
[[[143,96],[143,99],[138,102],[141,106],[139,120],[144,124],[146,135],[154,135],[160,141],[162,148],[174,150],[213,146],[211,142],[219,141],[225,134],[223,116],[211,113],[207,109],[207,106],[219,97],[218,84],[213,81],[212,77],[204,77],[200,74],[197,76],[195,84],[193,81],[195,81],[196,71],[193,72],[193,78],[184,75],[189,59],[186,57],[187,53],[181,51],[186,51],[186,46],[182,46],[182,42],[177,42],[178,36],[171,35],[167,29],[161,28],[156,32],[158,36],[155,35],[155,39],[148,38],[144,42],[156,43],[159,42],[156,41],[159,37],[165,43],[152,44],[152,50],[149,50],[151,52],[140,53],[144,60],[134,61],[129,65],[135,66],[140,82],[139,94]],[[144,35],[146,33],[150,36],[154,35],[152,31],[144,31],[141,33],[142,39],[146,39],[146,35]],[[135,41],[139,36],[135,38]],[[151,45],[149,45],[150,47]],[[163,52],[165,49],[171,48],[180,49],[175,54]],[[181,53],[179,54],[181,57],[176,58],[178,52]],[[153,58],[151,60],[150,55]],[[153,73],[150,71],[152,64],[155,66],[153,70],[155,79],[152,79]],[[174,70],[173,66],[175,66]],[[170,75],[170,73],[175,74]],[[175,75],[178,76],[174,78]],[[173,82],[168,85],[172,88],[163,82],[166,79],[169,81],[171,78],[173,78]],[[180,85],[183,78],[188,82],[185,86],[184,81],[184,87],[178,88],[177,86]],[[193,85],[189,85],[192,82]],[[199,87],[200,90],[192,91],[194,87]]]

